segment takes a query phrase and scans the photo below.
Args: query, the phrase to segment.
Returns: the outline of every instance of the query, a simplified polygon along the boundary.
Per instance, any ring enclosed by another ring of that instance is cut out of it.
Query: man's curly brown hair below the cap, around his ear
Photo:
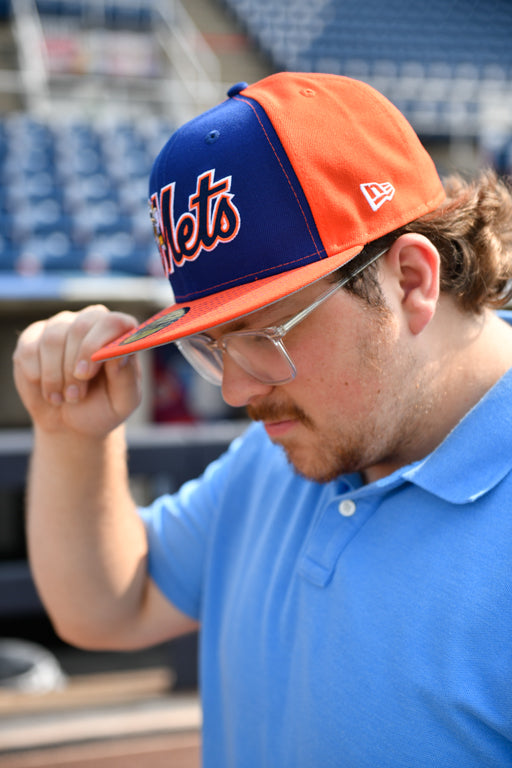
[[[512,182],[485,170],[471,181],[450,176],[444,187],[446,199],[438,208],[369,243],[356,259],[368,258],[401,235],[417,232],[439,251],[441,291],[452,295],[461,309],[478,314],[484,307],[502,307],[512,299]],[[378,262],[346,288],[382,307]]]

